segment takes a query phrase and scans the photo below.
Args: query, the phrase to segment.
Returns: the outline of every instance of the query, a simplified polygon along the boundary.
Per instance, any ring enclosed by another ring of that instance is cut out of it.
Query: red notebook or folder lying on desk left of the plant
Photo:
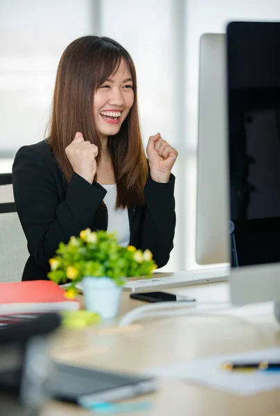
[[[80,309],[79,302],[67,299],[64,293],[50,280],[0,283],[0,315]]]

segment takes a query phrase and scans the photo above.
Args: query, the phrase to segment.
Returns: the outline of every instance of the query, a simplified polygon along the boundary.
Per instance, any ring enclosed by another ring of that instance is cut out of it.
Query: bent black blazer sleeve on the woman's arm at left
[[[63,200],[62,173],[44,146],[19,149],[12,167],[19,220],[38,266],[48,263],[60,241],[67,243],[91,227],[106,193],[96,182],[74,173]]]

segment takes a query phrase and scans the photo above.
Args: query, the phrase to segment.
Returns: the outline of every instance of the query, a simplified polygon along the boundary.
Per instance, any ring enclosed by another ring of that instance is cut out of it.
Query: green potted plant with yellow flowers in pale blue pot
[[[78,293],[76,284],[82,281],[85,306],[103,318],[114,318],[119,311],[122,286],[127,277],[150,277],[157,268],[150,250],[137,250],[133,245],[121,247],[114,233],[89,228],[69,243],[60,243],[56,256],[49,260],[49,279],[64,284],[70,279],[66,296]]]

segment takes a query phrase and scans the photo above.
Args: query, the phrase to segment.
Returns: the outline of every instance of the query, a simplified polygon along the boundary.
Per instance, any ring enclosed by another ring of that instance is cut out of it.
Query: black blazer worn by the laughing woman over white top
[[[47,279],[49,259],[60,241],[68,243],[82,229],[107,229],[106,190],[73,174],[69,184],[46,141],[19,149],[12,166],[19,220],[30,257],[22,280]],[[175,177],[166,184],[150,175],[144,189],[146,205],[128,209],[130,244],[149,248],[160,268],[169,259],[175,232]]]

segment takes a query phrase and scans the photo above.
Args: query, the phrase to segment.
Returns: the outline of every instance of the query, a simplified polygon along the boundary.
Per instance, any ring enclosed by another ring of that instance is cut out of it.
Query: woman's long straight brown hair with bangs
[[[94,125],[94,92],[124,59],[133,78],[134,103],[117,135],[108,137],[108,150],[116,178],[116,208],[143,204],[143,189],[148,164],[143,149],[137,104],[137,78],[134,62],[128,51],[109,37],[84,36],[67,46],[58,65],[51,110],[48,142],[60,168],[71,180],[73,168],[65,148],[76,132],[98,146],[96,162],[100,162],[101,143]]]

